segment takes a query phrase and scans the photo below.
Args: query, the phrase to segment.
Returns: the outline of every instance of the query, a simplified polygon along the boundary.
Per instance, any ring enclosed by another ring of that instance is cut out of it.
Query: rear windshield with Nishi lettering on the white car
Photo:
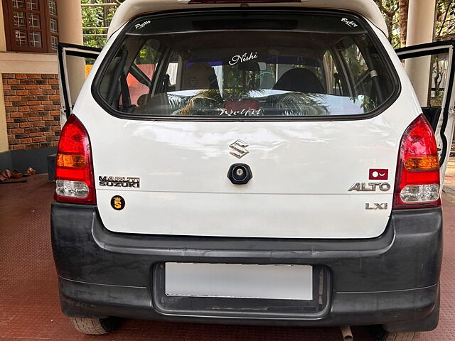
[[[346,13],[206,11],[130,23],[97,89],[132,117],[325,117],[394,93],[370,29]]]

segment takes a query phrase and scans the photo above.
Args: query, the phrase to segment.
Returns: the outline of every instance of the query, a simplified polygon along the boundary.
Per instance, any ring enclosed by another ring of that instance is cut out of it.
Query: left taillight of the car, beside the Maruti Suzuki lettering
[[[92,149],[87,130],[71,115],[62,129],[55,162],[55,200],[95,204]]]

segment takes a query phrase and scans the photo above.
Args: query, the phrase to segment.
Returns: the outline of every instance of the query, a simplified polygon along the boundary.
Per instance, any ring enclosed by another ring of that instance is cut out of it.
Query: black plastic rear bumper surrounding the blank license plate
[[[95,206],[54,203],[52,241],[68,316],[400,330],[430,330],[437,323],[437,317],[424,321],[438,309],[439,208],[392,212],[384,234],[374,239],[301,240],[117,234],[105,229]],[[159,280],[169,261],[309,264],[323,269],[321,304],[313,311],[274,300],[169,303]]]

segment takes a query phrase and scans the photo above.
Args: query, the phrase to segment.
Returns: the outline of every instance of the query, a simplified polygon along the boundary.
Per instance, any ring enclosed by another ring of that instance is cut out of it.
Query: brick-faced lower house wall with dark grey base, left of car
[[[35,70],[39,69],[40,67],[35,67]],[[47,173],[47,156],[55,153],[60,137],[58,75],[53,73],[0,75],[4,99],[3,105],[0,102],[0,109],[5,112],[8,144],[8,149],[0,152],[0,172],[6,168],[25,171],[31,166],[38,173]]]

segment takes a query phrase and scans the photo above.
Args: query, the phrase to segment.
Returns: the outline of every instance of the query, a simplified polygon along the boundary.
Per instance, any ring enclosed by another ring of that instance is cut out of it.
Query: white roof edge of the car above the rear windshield
[[[125,23],[146,13],[156,13],[162,11],[185,10],[185,9],[216,9],[216,8],[238,8],[245,2],[240,3],[194,3],[188,4],[189,0],[126,0],[119,6],[112,19],[107,33],[108,38],[119,30]],[[388,36],[387,25],[382,17],[378,6],[373,0],[301,0],[301,2],[247,2],[248,6],[279,6],[279,7],[302,7],[319,9],[341,9],[360,14],[370,20],[375,26]]]

